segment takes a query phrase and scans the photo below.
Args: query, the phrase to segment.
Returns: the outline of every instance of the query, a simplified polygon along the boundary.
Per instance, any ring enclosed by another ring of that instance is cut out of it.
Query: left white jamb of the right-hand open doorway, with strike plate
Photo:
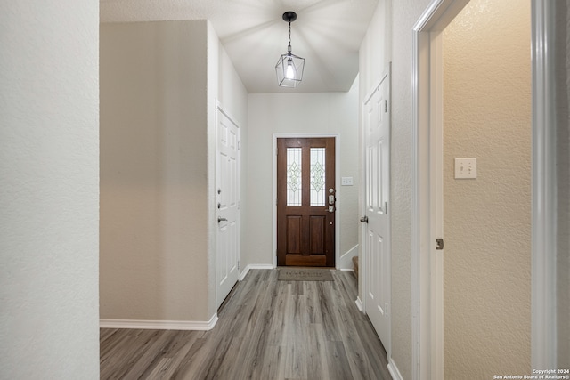
[[[411,145],[412,378],[444,378],[444,28],[468,0],[433,0],[413,26]]]

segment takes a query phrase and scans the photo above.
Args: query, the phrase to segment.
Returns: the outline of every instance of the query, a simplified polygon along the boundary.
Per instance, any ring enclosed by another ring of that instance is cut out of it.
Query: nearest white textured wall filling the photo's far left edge
[[[99,2],[0,2],[0,377],[98,379]]]

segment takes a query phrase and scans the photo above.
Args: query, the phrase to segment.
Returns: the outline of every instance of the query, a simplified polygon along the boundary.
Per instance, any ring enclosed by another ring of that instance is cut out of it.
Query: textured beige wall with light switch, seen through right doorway
[[[471,0],[444,30],[445,378],[531,373],[530,20]]]

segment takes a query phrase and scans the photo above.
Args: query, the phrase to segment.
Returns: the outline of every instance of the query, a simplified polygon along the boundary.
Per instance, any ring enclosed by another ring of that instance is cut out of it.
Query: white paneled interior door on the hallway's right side
[[[364,308],[382,344],[390,347],[390,77],[365,101]]]

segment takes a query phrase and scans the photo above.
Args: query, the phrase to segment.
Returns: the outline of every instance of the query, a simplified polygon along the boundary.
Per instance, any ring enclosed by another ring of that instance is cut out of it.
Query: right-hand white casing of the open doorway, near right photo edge
[[[557,2],[533,0],[532,368],[560,368],[557,260]],[[566,20],[566,19],[565,19]],[[564,22],[564,21],[563,21]],[[565,85],[564,83],[562,84]],[[567,356],[566,356],[567,357]]]

